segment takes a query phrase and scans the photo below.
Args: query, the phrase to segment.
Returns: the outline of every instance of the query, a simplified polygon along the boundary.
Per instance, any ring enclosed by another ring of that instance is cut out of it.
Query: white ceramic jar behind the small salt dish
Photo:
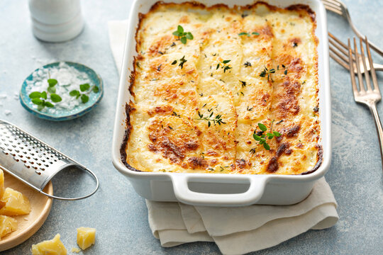
[[[72,40],[84,27],[79,0],[29,0],[35,37],[46,42]]]

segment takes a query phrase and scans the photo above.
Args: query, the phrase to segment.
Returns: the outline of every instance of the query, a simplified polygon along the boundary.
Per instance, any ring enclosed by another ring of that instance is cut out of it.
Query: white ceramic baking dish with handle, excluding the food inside
[[[331,162],[331,94],[328,71],[328,38],[326,11],[319,0],[263,0],[279,7],[306,4],[316,13],[318,44],[319,111],[323,159],[311,174],[282,176],[277,174],[181,174],[133,171],[121,162],[120,147],[126,130],[126,103],[129,102],[129,75],[133,69],[135,30],[138,13],[147,13],[157,0],[135,0],[131,8],[126,45],[118,90],[116,119],[113,130],[113,164],[131,181],[135,191],[148,200],[180,201],[190,205],[240,206],[251,204],[291,205],[304,200]],[[181,3],[185,0],[165,0]],[[254,0],[200,0],[202,4],[252,4]]]

